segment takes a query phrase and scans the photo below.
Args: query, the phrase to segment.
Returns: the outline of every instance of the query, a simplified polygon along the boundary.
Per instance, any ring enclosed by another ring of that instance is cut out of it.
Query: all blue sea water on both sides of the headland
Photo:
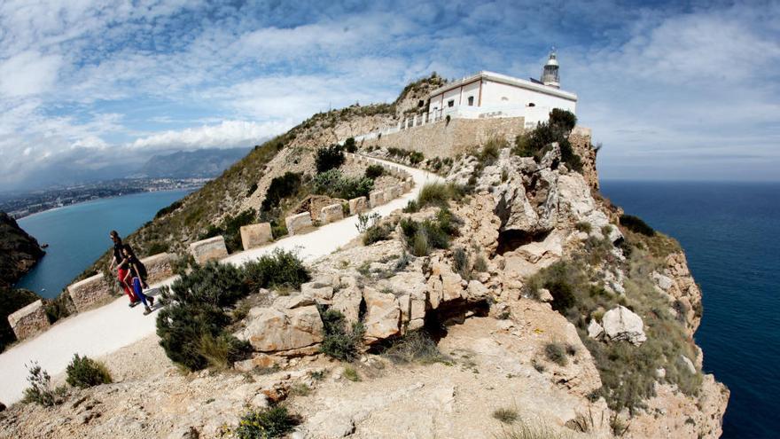
[[[678,239],[701,286],[696,333],[704,370],[731,390],[725,438],[780,437],[780,183],[606,180],[628,214]],[[187,192],[147,192],[58,208],[19,223],[47,255],[19,286],[52,297],[111,247]]]

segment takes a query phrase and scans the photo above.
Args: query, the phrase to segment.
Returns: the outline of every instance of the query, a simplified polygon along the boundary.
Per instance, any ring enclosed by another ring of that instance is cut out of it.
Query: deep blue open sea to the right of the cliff
[[[704,297],[704,369],[731,390],[722,437],[780,437],[780,184],[605,181],[602,192],[685,249]]]

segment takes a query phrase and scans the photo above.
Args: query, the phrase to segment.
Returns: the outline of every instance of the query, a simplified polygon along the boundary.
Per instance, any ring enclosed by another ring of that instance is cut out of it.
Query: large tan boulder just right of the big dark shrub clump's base
[[[313,304],[292,309],[254,308],[246,322],[246,328],[236,335],[260,352],[308,348],[323,341],[323,321]]]

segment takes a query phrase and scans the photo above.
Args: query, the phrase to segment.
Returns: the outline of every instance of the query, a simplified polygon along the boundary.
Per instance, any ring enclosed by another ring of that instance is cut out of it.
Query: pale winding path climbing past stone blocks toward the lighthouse
[[[415,185],[411,192],[387,204],[371,209],[381,216],[406,206],[409,200],[417,198],[417,193],[425,183],[441,181],[440,176],[420,169],[409,168],[390,161],[369,158],[373,161],[400,167],[409,172]],[[330,255],[339,247],[355,239],[359,233],[355,228],[355,216],[349,216],[330,223],[303,235],[293,235],[266,247],[253,248],[245,252],[230,255],[222,262],[241,265],[276,248],[296,250],[305,262],[311,262],[324,255]],[[169,285],[175,278],[168,278],[153,288]],[[27,388],[27,364],[35,360],[52,376],[65,372],[74,354],[99,357],[110,354],[129,344],[154,333],[155,315],[144,316],[143,308],[128,308],[127,298],[122,296],[115,301],[74,317],[69,317],[51,327],[49,331],[0,354],[0,401],[12,404],[19,401]]]

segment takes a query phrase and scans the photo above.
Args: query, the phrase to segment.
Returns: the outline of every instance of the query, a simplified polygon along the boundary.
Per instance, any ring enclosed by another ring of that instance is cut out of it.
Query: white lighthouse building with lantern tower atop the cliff
[[[556,52],[542,70],[541,80],[524,80],[482,71],[449,82],[429,95],[425,122],[450,118],[524,117],[527,128],[546,122],[553,108],[576,114],[577,95],[560,90]]]

